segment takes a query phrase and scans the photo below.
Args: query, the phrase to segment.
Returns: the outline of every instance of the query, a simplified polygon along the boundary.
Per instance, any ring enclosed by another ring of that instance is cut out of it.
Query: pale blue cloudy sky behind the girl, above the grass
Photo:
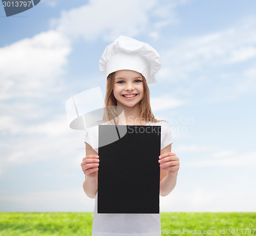
[[[42,0],[0,6],[0,211],[93,211],[82,189],[86,131],[66,102],[100,86],[98,63],[120,35],[161,56],[150,84],[180,159],[161,211],[256,210],[256,2]],[[142,167],[143,168],[143,167]]]

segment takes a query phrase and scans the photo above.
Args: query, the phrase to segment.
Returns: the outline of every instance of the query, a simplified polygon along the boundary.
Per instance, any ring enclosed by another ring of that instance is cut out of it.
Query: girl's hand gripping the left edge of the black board
[[[87,155],[82,159],[82,171],[88,178],[96,178],[97,171],[99,170],[99,156]]]

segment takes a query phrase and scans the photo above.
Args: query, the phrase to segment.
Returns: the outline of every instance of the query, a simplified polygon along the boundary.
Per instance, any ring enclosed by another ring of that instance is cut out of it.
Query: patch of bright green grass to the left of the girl
[[[93,213],[0,213],[1,236],[91,235]]]

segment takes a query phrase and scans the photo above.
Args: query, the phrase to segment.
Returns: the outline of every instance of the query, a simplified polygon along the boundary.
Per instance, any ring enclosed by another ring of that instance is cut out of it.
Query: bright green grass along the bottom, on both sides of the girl
[[[93,213],[0,213],[0,235],[89,236],[92,222]],[[256,213],[161,213],[161,227],[162,235],[256,235]]]

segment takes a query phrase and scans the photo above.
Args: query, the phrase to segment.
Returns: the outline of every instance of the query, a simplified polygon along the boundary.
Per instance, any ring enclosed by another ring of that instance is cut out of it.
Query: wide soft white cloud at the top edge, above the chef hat
[[[98,37],[113,41],[120,35],[135,37],[147,34],[151,29],[158,31],[161,27],[175,22],[174,9],[179,1],[166,1],[159,4],[156,0],[94,0],[87,5],[69,11],[62,11],[59,19],[51,22],[53,28],[69,37],[82,37],[92,41]],[[151,17],[158,18],[154,26]],[[125,27],[124,27],[125,25]],[[154,28],[154,29],[152,29]],[[158,34],[150,33],[156,38]]]

